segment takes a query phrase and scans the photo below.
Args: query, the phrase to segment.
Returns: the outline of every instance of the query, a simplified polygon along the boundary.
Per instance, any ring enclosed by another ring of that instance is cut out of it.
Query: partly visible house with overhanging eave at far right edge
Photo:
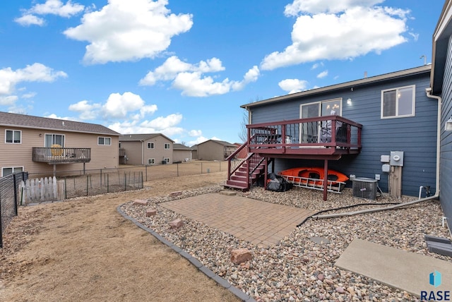
[[[431,94],[442,100],[439,121],[439,200],[452,229],[452,2],[446,1],[433,35]]]

